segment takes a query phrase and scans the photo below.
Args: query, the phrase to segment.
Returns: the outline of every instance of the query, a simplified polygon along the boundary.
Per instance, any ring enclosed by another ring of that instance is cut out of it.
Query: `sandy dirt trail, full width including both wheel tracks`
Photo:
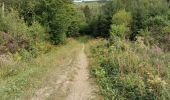
[[[84,49],[83,44],[74,54],[75,58],[51,72],[46,85],[37,90],[31,100],[100,100],[95,99],[95,87],[89,80]]]

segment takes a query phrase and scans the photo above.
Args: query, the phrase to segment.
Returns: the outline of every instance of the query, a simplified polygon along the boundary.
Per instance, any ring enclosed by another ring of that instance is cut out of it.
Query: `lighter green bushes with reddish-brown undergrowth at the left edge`
[[[4,27],[0,28],[0,50],[2,52],[19,52],[23,58],[24,55],[37,57],[37,44],[44,42],[47,37],[45,29],[39,23],[33,22],[31,26],[27,26],[24,20],[19,18],[16,11],[8,13],[4,18],[0,18],[0,24]],[[6,51],[5,51],[6,50]],[[23,53],[23,51],[25,53]]]

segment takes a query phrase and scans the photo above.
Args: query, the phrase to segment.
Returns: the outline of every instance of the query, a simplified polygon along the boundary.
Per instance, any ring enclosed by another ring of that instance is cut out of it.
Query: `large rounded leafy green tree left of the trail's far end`
[[[52,9],[51,12],[47,11],[47,15],[51,18],[49,20],[49,26],[51,38],[54,44],[64,43],[66,41],[67,33],[68,36],[74,36],[78,34],[79,31],[79,15],[75,14],[76,9],[74,5],[68,0],[59,0],[50,2],[47,9]],[[55,5],[55,6],[53,6]],[[45,24],[43,22],[43,24]],[[74,27],[73,27],[74,25]],[[75,32],[75,33],[74,33]]]

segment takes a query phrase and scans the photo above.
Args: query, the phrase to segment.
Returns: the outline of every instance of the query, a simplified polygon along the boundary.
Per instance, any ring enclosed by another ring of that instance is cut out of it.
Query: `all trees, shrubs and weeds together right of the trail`
[[[165,0],[112,0],[91,42],[91,73],[106,100],[170,99],[170,19]],[[108,34],[108,35],[106,35]]]

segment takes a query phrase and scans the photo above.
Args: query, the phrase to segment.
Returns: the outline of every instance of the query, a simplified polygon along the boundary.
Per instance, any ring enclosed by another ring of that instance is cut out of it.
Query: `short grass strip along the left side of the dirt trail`
[[[80,43],[70,41],[31,62],[12,62],[0,70],[0,97],[5,100],[19,99],[32,95],[34,90],[47,81],[50,73],[72,58]]]

